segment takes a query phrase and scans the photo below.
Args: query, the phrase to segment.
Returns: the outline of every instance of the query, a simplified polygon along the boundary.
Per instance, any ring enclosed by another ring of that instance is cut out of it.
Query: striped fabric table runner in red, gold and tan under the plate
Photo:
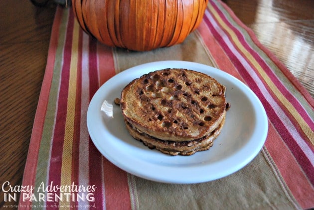
[[[104,158],[86,125],[89,102],[130,67],[185,60],[221,69],[261,100],[265,146],[240,171],[212,182],[174,185],[129,174]],[[179,45],[149,52],[104,46],[58,7],[23,177],[27,209],[306,209],[314,207],[314,100],[220,0]],[[63,197],[61,196],[63,195]],[[61,198],[59,198],[61,197]]]

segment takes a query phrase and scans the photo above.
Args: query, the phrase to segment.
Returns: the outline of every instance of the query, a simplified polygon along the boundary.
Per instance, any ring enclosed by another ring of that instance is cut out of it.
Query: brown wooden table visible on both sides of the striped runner
[[[224,0],[314,95],[314,1]],[[56,5],[0,1],[0,187],[21,185]],[[0,188],[1,189],[1,188]],[[18,201],[18,198],[17,198]],[[0,190],[0,207],[4,204]]]

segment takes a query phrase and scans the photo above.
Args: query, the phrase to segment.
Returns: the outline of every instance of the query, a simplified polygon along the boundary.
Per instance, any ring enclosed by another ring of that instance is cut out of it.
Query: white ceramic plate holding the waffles
[[[149,149],[128,133],[120,106],[114,100],[133,79],[165,68],[203,72],[226,86],[231,108],[209,150],[191,156],[169,156]],[[107,104],[105,111],[101,110],[103,102]],[[247,165],[264,145],[268,120],[256,95],[233,76],[203,64],[160,61],[125,70],[101,86],[88,107],[87,126],[97,149],[119,168],[157,182],[189,184],[219,179]]]

